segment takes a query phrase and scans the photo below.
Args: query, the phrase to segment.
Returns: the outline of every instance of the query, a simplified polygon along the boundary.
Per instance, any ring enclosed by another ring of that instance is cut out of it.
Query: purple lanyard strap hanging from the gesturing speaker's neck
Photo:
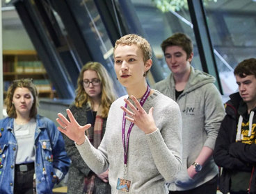
[[[143,97],[141,98],[141,101],[140,101],[141,106],[144,105],[148,96],[150,96],[150,87],[147,85],[147,91],[145,92],[145,94],[143,95]],[[126,103],[125,103],[125,107],[127,107]],[[130,134],[131,134],[131,128],[134,127],[134,123],[131,123],[131,125],[129,126],[129,130],[127,132],[127,138],[126,138],[126,146],[125,146],[125,123],[126,123],[125,115],[126,115],[126,112],[124,112],[124,114],[122,116],[122,145],[124,146],[124,156],[125,156],[125,166],[126,166],[127,165],[128,147],[129,147],[129,138],[130,138]]]

